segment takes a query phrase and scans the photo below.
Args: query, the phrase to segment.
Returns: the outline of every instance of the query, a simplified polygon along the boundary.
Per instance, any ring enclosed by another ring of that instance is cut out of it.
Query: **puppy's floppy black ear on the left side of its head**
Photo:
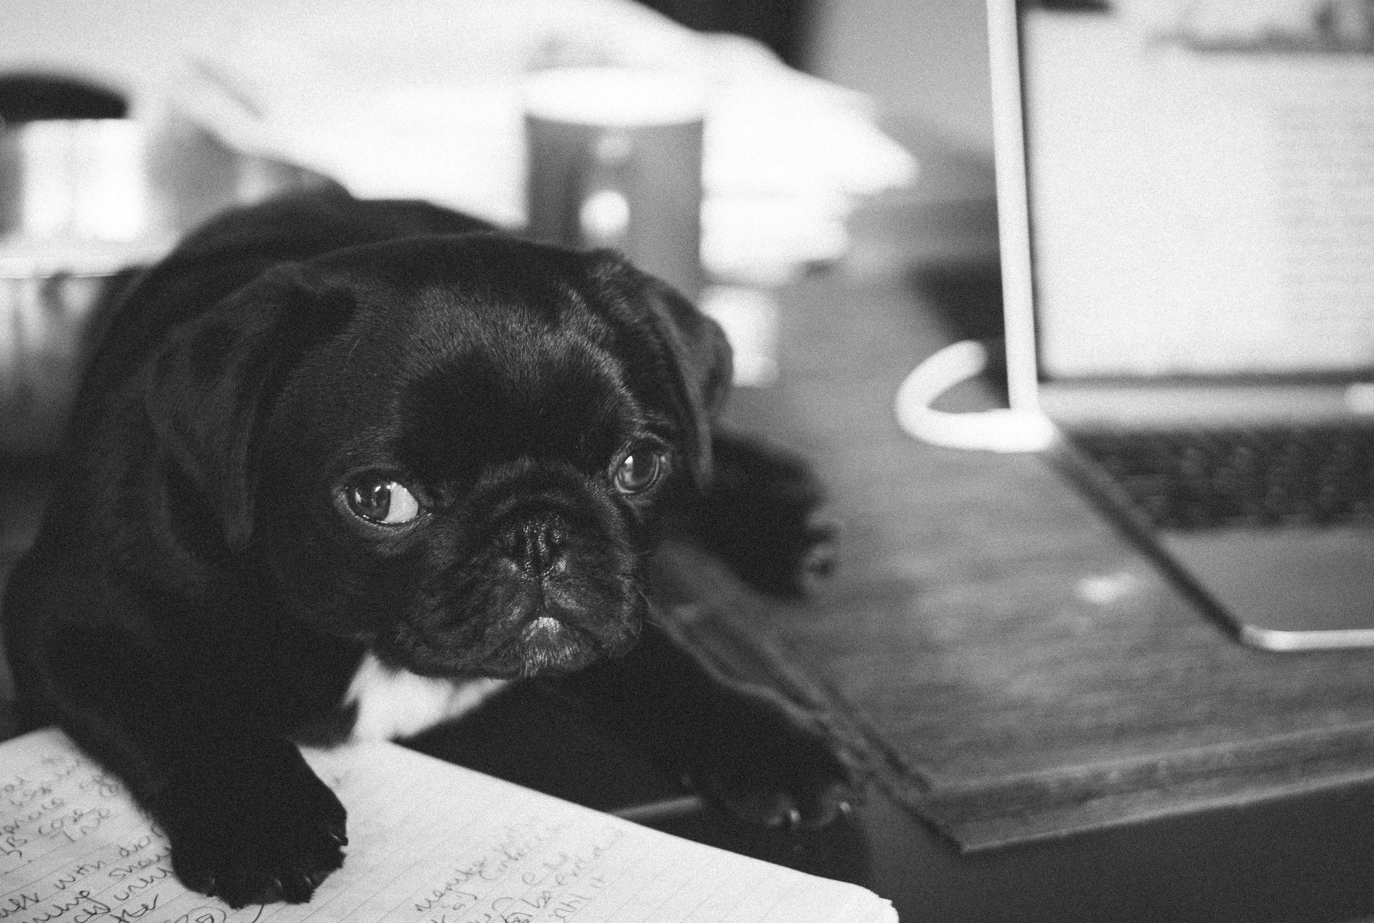
[[[282,265],[176,327],[151,364],[144,408],[162,457],[214,507],[232,551],[253,529],[254,448],[273,400],[352,306],[346,291]]]

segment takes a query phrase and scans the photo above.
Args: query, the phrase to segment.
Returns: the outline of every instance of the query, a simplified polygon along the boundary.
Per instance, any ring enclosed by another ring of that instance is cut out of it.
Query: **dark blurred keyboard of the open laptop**
[[[1077,433],[1161,529],[1374,525],[1374,427]]]

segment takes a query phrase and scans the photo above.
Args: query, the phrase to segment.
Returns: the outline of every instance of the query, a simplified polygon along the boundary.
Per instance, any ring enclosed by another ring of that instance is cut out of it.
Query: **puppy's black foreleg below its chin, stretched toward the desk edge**
[[[537,681],[745,820],[824,827],[857,798],[857,773],[812,716],[721,676],[661,625],[624,658]]]

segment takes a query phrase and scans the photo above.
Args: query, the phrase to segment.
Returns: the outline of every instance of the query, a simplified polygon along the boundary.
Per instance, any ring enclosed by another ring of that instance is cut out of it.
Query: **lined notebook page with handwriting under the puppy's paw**
[[[124,786],[56,729],[0,744],[0,923],[894,922],[841,882],[375,743],[306,760],[349,812],[309,904],[234,911],[172,874]]]

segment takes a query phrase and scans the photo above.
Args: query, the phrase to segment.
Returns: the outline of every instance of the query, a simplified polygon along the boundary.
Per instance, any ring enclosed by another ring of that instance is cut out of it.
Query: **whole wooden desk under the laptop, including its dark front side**
[[[1374,912],[1374,651],[1242,648],[1044,459],[905,437],[901,378],[995,332],[991,265],[937,250],[919,212],[857,223],[730,412],[815,459],[848,530],[813,603],[739,613],[900,766],[861,812],[868,885],[911,920]]]

